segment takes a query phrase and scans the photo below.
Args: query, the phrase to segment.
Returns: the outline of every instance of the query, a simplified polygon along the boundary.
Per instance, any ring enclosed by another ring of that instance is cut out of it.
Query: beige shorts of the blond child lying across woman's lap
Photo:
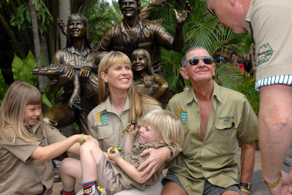
[[[105,155],[102,155],[99,159],[97,166],[97,185],[106,188],[110,191],[110,194],[120,192],[125,189],[120,183],[120,172],[113,165],[112,162],[108,161]],[[80,176],[79,182],[82,182],[82,175]]]

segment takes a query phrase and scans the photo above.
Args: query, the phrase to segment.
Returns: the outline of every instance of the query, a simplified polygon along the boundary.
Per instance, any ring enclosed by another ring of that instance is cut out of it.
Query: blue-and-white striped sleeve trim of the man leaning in
[[[259,91],[259,88],[261,86],[274,85],[274,84],[292,85],[292,75],[272,76],[269,78],[258,80],[255,83],[255,90]]]

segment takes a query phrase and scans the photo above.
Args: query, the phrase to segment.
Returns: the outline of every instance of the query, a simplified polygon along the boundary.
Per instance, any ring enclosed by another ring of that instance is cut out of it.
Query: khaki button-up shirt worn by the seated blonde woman
[[[151,100],[152,101],[152,100]],[[162,109],[155,101],[155,104],[145,104],[144,113],[154,109]],[[89,135],[99,140],[99,147],[107,151],[109,147],[116,146],[123,148],[128,132],[122,133],[129,122],[130,99],[127,96],[125,106],[121,110],[120,116],[115,107],[110,103],[109,97],[96,106],[87,116]],[[137,119],[142,124],[144,116]]]

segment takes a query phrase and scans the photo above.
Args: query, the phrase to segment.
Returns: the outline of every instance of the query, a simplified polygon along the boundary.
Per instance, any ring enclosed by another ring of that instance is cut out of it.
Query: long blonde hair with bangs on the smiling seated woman
[[[101,73],[107,73],[107,70],[110,66],[122,63],[130,65],[132,68],[132,63],[128,56],[118,51],[109,52],[100,61],[98,68],[99,103],[105,101],[109,96],[108,84],[101,78]],[[144,103],[157,104],[160,106],[160,103],[156,99],[135,91],[133,82],[128,89],[128,96],[130,98],[129,121],[136,120],[137,118],[144,115]]]

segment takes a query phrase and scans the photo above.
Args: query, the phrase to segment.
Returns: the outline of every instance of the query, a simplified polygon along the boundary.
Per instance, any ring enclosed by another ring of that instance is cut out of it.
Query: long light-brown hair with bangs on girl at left
[[[31,136],[29,132],[30,126],[23,121],[24,109],[28,104],[41,104],[43,96],[40,91],[28,82],[13,82],[3,98],[0,106],[0,136],[7,143],[8,141],[2,136],[4,129],[11,132],[12,143],[16,137],[28,142],[34,143],[37,139]],[[38,121],[43,121],[42,113],[38,117]],[[40,126],[42,128],[42,125]]]

